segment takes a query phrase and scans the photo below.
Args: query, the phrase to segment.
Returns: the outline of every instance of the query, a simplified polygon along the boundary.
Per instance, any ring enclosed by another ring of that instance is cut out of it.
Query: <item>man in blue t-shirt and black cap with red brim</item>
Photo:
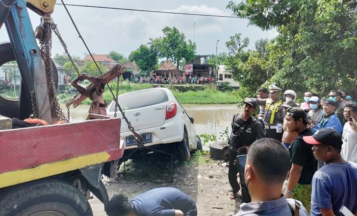
[[[343,215],[342,206],[356,215],[357,164],[342,158],[340,134],[323,128],[303,140],[313,145],[315,158],[326,163],[312,179],[311,215]]]

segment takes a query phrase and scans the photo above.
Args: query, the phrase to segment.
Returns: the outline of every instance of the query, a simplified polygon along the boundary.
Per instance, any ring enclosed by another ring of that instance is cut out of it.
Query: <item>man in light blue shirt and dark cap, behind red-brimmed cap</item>
[[[325,100],[323,102],[323,112],[325,113],[321,119],[321,122],[319,124],[316,124],[313,128],[311,128],[312,132],[316,132],[317,130],[321,128],[333,128],[340,134],[342,133],[342,125],[341,122],[335,114],[335,109],[336,109],[336,103],[332,100]]]

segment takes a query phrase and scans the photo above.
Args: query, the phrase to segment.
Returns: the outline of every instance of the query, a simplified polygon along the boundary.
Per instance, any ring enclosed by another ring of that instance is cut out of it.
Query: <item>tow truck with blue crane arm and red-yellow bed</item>
[[[0,28],[5,23],[10,38],[0,44],[0,66],[16,60],[22,78],[19,99],[0,95],[0,216],[90,216],[91,193],[107,209],[101,176],[114,177],[123,156],[121,119],[106,115],[101,95],[105,84],[123,73],[120,64],[100,77],[82,74],[73,82],[79,94],[66,106],[90,98],[86,121],[69,123],[59,106],[57,71],[50,56],[55,3],[0,0]],[[35,32],[28,9],[41,16]],[[79,85],[84,79],[91,84]],[[23,121],[31,115],[48,125],[11,128],[13,119]]]

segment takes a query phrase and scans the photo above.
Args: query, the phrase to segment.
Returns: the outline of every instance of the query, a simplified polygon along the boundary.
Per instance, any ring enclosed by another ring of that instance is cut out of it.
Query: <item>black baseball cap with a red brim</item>
[[[328,145],[337,149],[342,147],[341,135],[332,128],[321,128],[312,136],[303,136],[302,139],[311,145]]]

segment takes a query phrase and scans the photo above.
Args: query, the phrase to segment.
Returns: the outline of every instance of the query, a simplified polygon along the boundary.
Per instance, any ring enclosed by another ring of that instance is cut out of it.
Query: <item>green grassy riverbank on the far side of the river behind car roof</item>
[[[116,93],[116,83],[110,83],[110,87],[113,93]],[[182,104],[236,104],[238,102],[238,97],[233,91],[219,91],[214,86],[205,86],[203,90],[193,91],[188,90],[181,92],[170,85],[164,85],[164,87],[170,88],[175,97]],[[121,83],[119,85],[119,95],[135,90],[152,88],[150,84],[132,84],[132,83]],[[105,100],[110,103],[113,96],[106,86],[104,92]],[[58,99],[60,103],[65,103],[68,99],[72,98],[74,94],[59,94]],[[90,100],[86,99],[83,104],[90,104]]]

